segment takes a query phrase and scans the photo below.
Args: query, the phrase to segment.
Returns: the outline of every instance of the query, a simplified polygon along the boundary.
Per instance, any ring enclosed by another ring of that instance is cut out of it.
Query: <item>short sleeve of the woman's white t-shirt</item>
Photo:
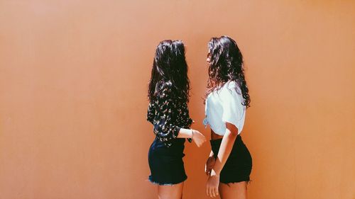
[[[236,87],[226,86],[222,92],[222,121],[231,123],[238,128],[238,134],[244,125],[244,106],[241,104],[241,96],[236,92]]]

